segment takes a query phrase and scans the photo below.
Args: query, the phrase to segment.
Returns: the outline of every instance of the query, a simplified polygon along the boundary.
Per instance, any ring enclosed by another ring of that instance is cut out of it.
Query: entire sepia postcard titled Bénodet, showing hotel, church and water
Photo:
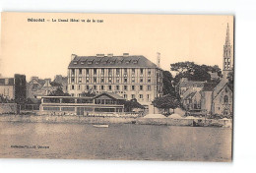
[[[233,16],[1,16],[1,158],[232,160]]]

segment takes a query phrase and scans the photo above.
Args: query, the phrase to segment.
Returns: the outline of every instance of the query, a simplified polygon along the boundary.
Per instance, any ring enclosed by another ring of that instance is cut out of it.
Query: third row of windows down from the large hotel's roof
[[[112,90],[114,87],[115,87],[115,90],[120,90],[120,86],[106,86],[108,90]],[[94,86],[94,87],[90,87],[90,86],[86,86],[85,89],[89,90],[93,88],[94,90],[98,89],[97,86]],[[70,87],[71,90],[74,90],[75,89],[75,86],[72,85]],[[82,89],[82,86],[78,86],[77,88],[78,90],[81,90]],[[100,90],[105,90],[105,86],[100,86],[99,88]],[[130,90],[135,90],[135,86],[131,86],[131,89]],[[123,90],[128,90],[128,86],[123,86]],[[139,90],[144,90],[144,86],[139,86]],[[147,90],[151,90],[151,86],[148,86],[147,87]]]

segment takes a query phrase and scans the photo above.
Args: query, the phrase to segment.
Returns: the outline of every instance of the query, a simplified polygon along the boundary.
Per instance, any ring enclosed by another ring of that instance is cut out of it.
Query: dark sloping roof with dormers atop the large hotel
[[[158,68],[142,55],[126,56],[75,56],[68,68]]]

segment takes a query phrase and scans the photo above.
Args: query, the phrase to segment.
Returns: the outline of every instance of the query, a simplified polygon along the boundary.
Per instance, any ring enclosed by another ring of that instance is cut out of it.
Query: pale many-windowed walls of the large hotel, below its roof
[[[75,73],[73,74],[72,71]],[[119,71],[119,75],[117,71]],[[160,74],[160,77],[157,73]],[[160,78],[159,82],[157,77]],[[101,89],[102,86],[103,89]],[[141,104],[149,105],[155,97],[162,94],[162,74],[157,68],[68,69],[68,92],[70,94],[80,96],[83,91],[91,88],[97,93],[115,92],[128,100],[134,97]]]

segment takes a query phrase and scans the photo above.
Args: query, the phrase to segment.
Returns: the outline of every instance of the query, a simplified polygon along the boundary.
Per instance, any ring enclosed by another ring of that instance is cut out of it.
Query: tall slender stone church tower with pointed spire
[[[224,43],[224,79],[227,78],[228,73],[232,72],[232,70],[233,70],[232,45],[230,43],[229,27],[227,24],[225,43]]]

